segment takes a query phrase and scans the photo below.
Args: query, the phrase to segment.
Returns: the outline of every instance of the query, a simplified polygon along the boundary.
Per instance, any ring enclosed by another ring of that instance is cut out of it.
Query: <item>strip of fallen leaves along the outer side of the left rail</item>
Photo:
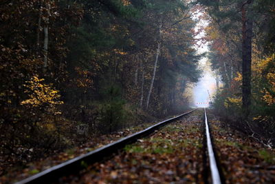
[[[13,183],[20,181],[24,178],[28,178],[34,174],[37,174],[43,170],[47,170],[54,165],[58,165],[70,159],[74,159],[76,156],[86,154],[92,150],[96,150],[98,147],[113,143],[124,136],[128,136],[140,130],[144,130],[146,127],[153,125],[154,123],[144,123],[135,127],[126,128],[120,132],[113,132],[111,134],[93,136],[87,138],[86,143],[72,147],[64,152],[56,153],[47,158],[41,158],[36,161],[32,161],[25,165],[13,165],[10,169],[7,169],[5,174],[0,177],[0,183]],[[1,158],[0,158],[1,161]],[[1,166],[1,165],[0,165]]]

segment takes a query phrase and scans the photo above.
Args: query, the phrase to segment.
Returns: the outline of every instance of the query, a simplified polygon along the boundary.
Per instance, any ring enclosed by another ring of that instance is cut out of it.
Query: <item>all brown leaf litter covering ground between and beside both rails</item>
[[[203,183],[202,115],[201,110],[192,112],[152,136],[126,145],[112,159],[86,165],[78,176],[64,176],[59,183]],[[208,114],[208,121],[225,183],[275,183],[274,150],[226,127],[217,116]],[[100,136],[74,149],[29,163],[23,171],[11,170],[0,182],[26,178],[144,128]]]

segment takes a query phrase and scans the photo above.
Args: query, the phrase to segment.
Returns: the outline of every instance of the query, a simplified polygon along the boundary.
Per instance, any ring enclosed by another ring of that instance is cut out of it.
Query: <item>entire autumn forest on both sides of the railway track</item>
[[[203,57],[214,112],[275,145],[273,0],[1,0],[0,12],[0,176],[189,110]]]

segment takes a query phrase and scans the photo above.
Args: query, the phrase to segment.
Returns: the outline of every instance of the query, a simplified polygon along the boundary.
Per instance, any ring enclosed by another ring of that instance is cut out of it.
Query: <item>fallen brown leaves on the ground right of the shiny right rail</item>
[[[275,183],[275,151],[208,115],[225,183]]]

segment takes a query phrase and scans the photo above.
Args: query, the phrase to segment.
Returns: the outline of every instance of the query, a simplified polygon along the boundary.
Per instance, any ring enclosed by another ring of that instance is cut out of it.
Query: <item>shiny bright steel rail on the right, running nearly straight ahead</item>
[[[213,150],[212,142],[210,138],[209,126],[208,126],[208,121],[206,116],[206,108],[204,108],[204,117],[205,117],[205,123],[206,123],[206,141],[207,141],[206,143],[207,143],[212,183],[221,184],[221,176],[219,174],[219,169],[217,167],[217,161],[214,156],[214,150]]]

